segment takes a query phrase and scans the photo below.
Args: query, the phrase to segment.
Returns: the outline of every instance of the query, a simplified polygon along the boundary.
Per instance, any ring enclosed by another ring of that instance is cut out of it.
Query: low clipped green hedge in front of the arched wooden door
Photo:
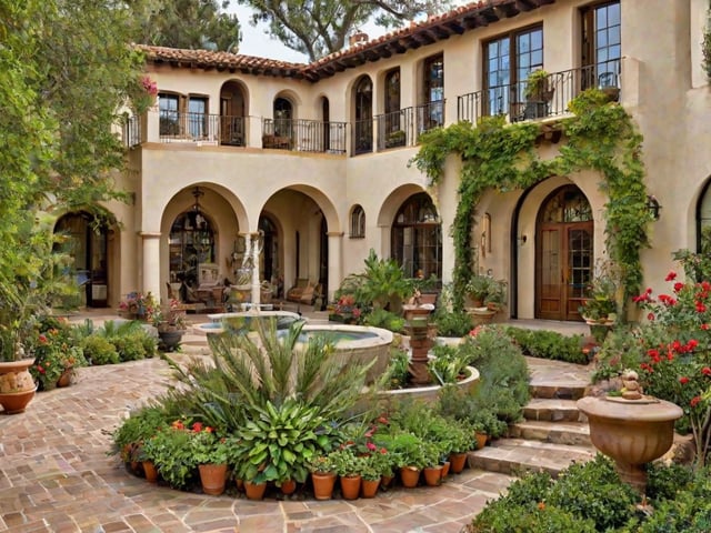
[[[582,335],[563,335],[555,331],[514,326],[507,326],[505,332],[528,355],[569,363],[588,363],[588,355],[582,351]]]

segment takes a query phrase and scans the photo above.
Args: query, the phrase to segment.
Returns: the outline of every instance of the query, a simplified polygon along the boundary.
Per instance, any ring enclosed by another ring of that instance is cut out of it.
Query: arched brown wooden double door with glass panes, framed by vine
[[[594,261],[592,210],[580,189],[564,187],[545,200],[537,233],[535,316],[582,320],[578,308]]]

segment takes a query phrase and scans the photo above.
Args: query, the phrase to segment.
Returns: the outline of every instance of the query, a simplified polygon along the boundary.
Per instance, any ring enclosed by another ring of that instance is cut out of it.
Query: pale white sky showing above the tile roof
[[[453,6],[468,3],[470,0],[454,0]],[[246,56],[257,56],[260,58],[278,59],[281,61],[291,61],[296,63],[307,63],[307,56],[299,53],[284,47],[279,40],[270,38],[264,33],[267,24],[260,23],[253,27],[250,22],[252,10],[247,6],[237,6],[231,2],[227,9],[230,13],[237,13],[242,31],[242,41],[240,42],[240,53]],[[361,28],[371,39],[387,33],[388,30],[377,27],[374,23],[365,24]]]

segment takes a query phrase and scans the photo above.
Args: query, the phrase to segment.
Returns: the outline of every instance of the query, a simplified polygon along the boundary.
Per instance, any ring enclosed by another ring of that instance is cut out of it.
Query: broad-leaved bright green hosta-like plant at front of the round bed
[[[270,401],[263,408],[252,405],[234,454],[240,457],[236,465],[239,476],[257,483],[288,480],[303,483],[314,457],[330,449],[324,426],[318,408],[297,400],[287,400],[281,405]]]

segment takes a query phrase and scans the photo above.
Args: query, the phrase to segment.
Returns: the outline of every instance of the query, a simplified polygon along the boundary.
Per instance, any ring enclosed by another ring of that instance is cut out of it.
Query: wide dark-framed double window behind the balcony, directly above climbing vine
[[[543,68],[543,28],[537,26],[484,44],[484,114],[518,114],[525,79]]]

